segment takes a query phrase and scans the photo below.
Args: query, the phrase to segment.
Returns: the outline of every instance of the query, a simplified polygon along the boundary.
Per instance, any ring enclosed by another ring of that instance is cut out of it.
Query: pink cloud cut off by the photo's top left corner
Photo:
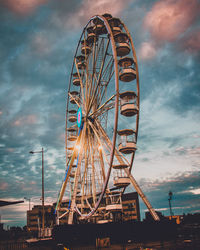
[[[26,15],[33,12],[46,1],[47,0],[2,0],[1,2],[11,11],[20,15]]]

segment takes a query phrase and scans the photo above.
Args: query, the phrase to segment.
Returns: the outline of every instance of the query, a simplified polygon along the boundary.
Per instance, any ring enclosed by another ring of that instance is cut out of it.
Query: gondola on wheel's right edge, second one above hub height
[[[118,64],[120,66],[119,79],[123,82],[130,82],[136,78],[136,71],[132,66],[134,60],[131,57],[123,57],[119,59]]]

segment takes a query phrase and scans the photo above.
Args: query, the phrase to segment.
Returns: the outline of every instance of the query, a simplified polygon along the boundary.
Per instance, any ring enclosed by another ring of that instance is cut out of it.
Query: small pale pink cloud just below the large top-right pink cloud
[[[150,60],[156,55],[156,49],[152,43],[144,42],[139,49],[138,55],[141,60]]]

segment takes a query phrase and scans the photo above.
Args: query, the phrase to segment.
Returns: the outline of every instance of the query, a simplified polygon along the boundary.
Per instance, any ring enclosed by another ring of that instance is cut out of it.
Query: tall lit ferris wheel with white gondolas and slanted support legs
[[[73,59],[66,110],[66,174],[58,218],[73,223],[121,209],[132,184],[155,220],[159,217],[131,174],[139,125],[139,74],[125,24],[110,14],[90,18]],[[61,206],[70,196],[68,208]]]

